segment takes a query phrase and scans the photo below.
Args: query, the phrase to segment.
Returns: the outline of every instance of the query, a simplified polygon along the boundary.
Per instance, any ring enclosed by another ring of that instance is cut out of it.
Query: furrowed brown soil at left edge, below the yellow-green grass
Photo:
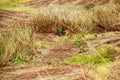
[[[0,10],[0,27],[11,27],[12,25],[30,24],[32,15],[25,12]]]

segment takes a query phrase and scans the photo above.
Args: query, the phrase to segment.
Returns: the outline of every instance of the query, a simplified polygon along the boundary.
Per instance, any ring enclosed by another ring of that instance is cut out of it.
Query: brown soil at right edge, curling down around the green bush
[[[117,32],[118,34],[118,32]],[[99,46],[106,45],[115,50],[115,59],[120,60],[120,34],[113,37],[93,38],[87,40],[90,51],[98,50]]]

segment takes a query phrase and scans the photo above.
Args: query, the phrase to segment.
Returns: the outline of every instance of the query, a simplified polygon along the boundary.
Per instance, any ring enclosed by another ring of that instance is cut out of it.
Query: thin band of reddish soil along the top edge
[[[73,5],[81,5],[85,3],[92,3],[94,5],[101,5],[110,2],[111,0],[32,0],[27,3],[23,3],[25,6],[32,7],[40,7],[40,6],[48,6],[50,4],[73,4]],[[116,0],[114,0],[116,1]]]

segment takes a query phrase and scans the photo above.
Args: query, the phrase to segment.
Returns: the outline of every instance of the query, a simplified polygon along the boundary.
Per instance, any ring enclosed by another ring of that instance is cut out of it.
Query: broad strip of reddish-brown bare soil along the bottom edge
[[[0,80],[93,80],[83,70],[84,65],[60,66],[52,68],[12,67],[2,68]],[[10,69],[10,68],[9,68]]]

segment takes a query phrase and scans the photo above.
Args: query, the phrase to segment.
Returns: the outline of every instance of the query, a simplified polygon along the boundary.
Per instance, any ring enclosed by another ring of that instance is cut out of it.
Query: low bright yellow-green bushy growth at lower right
[[[104,64],[114,61],[114,53],[110,47],[102,46],[94,54],[81,53],[79,56],[68,59],[65,64]]]

